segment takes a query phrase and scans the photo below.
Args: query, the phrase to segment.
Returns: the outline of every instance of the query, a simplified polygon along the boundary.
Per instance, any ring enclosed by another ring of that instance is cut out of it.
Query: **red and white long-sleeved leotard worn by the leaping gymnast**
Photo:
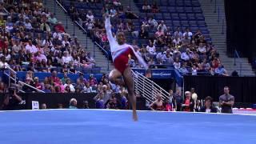
[[[110,42],[110,51],[112,59],[114,62],[114,67],[119,70],[122,74],[124,70],[128,67],[128,55],[135,56],[138,59],[138,62],[147,69],[147,64],[134,50],[133,46],[128,44],[119,45],[118,42],[113,37],[111,32],[110,18],[106,18],[105,21],[106,35]]]

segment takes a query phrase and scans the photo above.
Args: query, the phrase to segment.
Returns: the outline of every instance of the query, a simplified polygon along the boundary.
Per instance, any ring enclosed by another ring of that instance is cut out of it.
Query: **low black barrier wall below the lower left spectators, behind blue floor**
[[[88,101],[89,107],[91,109],[95,108],[94,96],[96,93],[88,93],[88,94],[50,94],[50,93],[22,93],[18,94],[22,97],[24,104],[20,105],[20,109],[31,110],[32,109],[32,101],[38,101],[41,105],[42,103],[46,103],[48,109],[56,109],[58,108],[58,103],[62,103],[63,108],[69,107],[69,102],[71,98],[76,98],[78,101],[78,108],[82,108],[82,102]],[[2,105],[3,99],[5,95],[0,94],[0,105]],[[117,98],[120,98],[117,95]],[[26,102],[26,103],[25,103]],[[137,109],[138,110],[146,110],[146,99],[145,98],[137,98]]]

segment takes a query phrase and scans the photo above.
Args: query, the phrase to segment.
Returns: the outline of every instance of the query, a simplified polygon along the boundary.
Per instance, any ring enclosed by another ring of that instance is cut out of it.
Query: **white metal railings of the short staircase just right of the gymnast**
[[[146,101],[153,102],[156,99],[156,94],[162,94],[162,98],[170,98],[170,94],[161,86],[138,73],[138,71],[131,71],[134,74],[135,91],[141,92]]]

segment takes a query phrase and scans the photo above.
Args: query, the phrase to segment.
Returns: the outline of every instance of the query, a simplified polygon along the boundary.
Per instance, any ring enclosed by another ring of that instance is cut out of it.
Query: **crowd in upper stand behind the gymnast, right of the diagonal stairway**
[[[142,9],[149,10],[151,14],[147,14],[146,18],[144,15],[134,14],[129,6],[124,8],[110,1],[102,5],[100,17],[89,8],[76,9],[75,3],[73,1],[70,4],[71,15],[74,15],[72,10],[78,12],[77,20],[90,32],[90,37],[105,50],[110,50],[104,29],[104,14],[107,12],[111,17],[113,35],[119,31],[124,32],[126,40],[134,46],[135,51],[146,60],[150,68],[172,67],[181,74],[228,76],[222,66],[217,47],[206,41],[201,30],[198,29],[194,34],[190,27],[185,30],[176,27],[172,30],[166,26],[164,19],[154,19],[154,14],[159,12],[156,2],[152,5],[145,2],[143,5]],[[130,66],[141,67],[132,58]]]

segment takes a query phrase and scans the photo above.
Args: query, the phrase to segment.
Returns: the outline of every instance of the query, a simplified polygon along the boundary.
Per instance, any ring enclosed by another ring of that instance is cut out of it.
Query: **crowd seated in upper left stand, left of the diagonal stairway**
[[[78,38],[71,38],[62,22],[42,3],[21,1],[2,3],[10,13],[1,27],[0,69],[15,71],[76,73],[76,68],[93,68],[94,58]]]

